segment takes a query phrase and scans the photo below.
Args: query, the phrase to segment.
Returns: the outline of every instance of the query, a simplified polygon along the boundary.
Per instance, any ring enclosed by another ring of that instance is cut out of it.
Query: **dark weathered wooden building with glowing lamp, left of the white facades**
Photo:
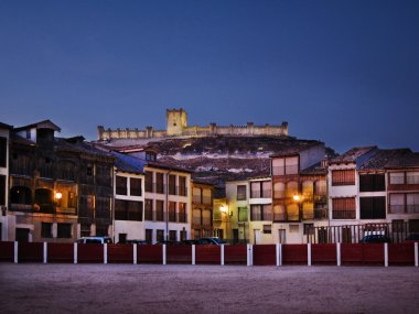
[[[73,242],[111,231],[112,156],[56,131],[50,120],[11,131],[6,240]]]

